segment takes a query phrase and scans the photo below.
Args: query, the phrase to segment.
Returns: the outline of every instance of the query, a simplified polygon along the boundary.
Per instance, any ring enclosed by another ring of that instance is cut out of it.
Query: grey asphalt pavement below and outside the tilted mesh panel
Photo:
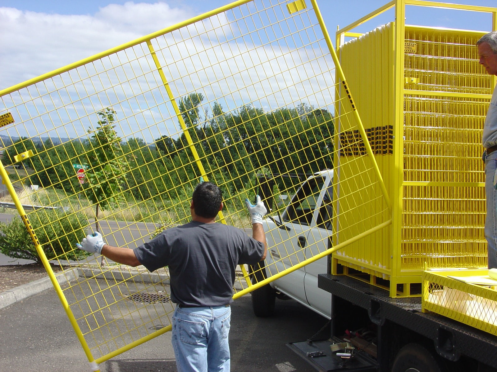
[[[257,318],[250,295],[232,305],[232,371],[315,372],[287,347],[318,332],[327,319],[293,300],[277,300],[276,314]],[[326,339],[330,327],[316,336]],[[174,372],[170,332],[100,364],[101,372]],[[0,371],[91,371],[73,328],[50,289],[0,310]]]

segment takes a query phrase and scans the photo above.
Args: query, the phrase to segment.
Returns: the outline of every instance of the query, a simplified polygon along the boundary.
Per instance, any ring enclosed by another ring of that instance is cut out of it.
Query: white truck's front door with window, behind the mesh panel
[[[273,258],[279,258],[276,262],[278,272],[306,259],[306,241],[324,184],[324,177],[315,177],[306,181],[283,212],[281,216],[283,225],[277,229],[277,233],[273,232],[273,234],[279,234],[277,240],[280,243],[270,249]],[[305,269],[301,268],[277,279],[274,285],[281,292],[308,305],[304,289],[304,276]]]

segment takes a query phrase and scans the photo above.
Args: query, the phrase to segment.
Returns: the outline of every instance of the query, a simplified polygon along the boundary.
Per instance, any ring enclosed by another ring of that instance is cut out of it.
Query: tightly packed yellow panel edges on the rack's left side
[[[394,75],[389,63],[394,60],[392,48],[392,25],[377,28],[364,36],[354,38],[340,46],[338,56],[350,90],[354,92],[354,102],[366,128],[369,143],[383,180],[391,195],[394,167],[393,123],[395,95]],[[342,96],[344,92],[341,92]],[[340,123],[338,123],[340,125]],[[363,153],[358,146],[349,150],[347,137],[354,135],[345,131],[340,137],[340,150],[337,164]],[[392,199],[394,202],[394,199]],[[375,232],[359,242],[333,254],[334,273],[341,272],[337,265],[343,265],[371,274],[378,285],[391,275],[391,227]],[[341,236],[338,236],[340,242]],[[388,286],[388,284],[385,284]]]

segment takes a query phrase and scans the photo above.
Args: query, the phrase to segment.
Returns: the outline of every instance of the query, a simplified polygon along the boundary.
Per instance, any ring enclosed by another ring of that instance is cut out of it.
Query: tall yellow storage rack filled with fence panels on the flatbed
[[[490,12],[493,24],[482,25],[488,31],[406,25],[406,5]],[[352,32],[392,8],[397,22]],[[334,274],[404,297],[420,294],[425,263],[487,267],[481,134],[495,76],[478,63],[475,44],[496,29],[496,14],[497,8],[392,1],[337,31],[337,55],[392,200],[393,222],[333,253]],[[335,166],[361,152],[344,136],[339,141]]]

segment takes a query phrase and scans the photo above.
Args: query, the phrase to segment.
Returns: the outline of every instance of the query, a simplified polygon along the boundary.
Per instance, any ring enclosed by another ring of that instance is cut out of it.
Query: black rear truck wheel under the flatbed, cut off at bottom
[[[419,344],[407,344],[394,360],[392,372],[443,372],[436,357]]]

